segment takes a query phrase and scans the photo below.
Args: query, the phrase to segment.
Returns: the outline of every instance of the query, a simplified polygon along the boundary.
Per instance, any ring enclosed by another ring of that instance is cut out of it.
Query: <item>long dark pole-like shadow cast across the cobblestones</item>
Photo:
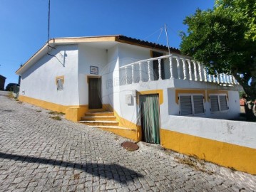
[[[94,164],[94,163],[86,163],[86,164],[77,164],[68,161],[60,161],[56,159],[45,159],[34,156],[22,156],[18,154],[5,154],[0,152],[0,159],[10,159],[14,161],[21,162],[29,162],[34,164],[46,164],[46,165],[54,165],[54,166],[62,166],[80,169],[81,171],[85,171],[88,174],[93,176],[113,179],[119,183],[125,181],[133,181],[134,178],[142,177],[141,174],[137,172],[127,169],[124,166],[120,166],[118,164]],[[120,179],[123,176],[124,181]]]

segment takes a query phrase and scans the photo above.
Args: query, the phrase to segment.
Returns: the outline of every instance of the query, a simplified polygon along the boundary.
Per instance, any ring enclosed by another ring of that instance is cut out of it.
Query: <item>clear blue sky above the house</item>
[[[50,38],[122,34],[179,48],[185,16],[212,9],[214,0],[51,0]],[[0,0],[0,75],[15,71],[48,40],[48,0]]]

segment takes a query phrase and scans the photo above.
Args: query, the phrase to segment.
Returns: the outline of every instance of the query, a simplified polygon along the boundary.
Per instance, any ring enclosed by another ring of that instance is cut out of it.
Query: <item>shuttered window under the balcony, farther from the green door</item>
[[[210,111],[227,111],[227,95],[210,95]]]

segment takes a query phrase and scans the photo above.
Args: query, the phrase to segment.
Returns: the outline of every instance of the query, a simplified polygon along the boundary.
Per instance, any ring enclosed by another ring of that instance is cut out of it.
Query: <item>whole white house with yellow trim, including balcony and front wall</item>
[[[135,141],[253,172],[254,165],[244,169],[247,157],[227,162],[237,151],[243,156],[253,148],[251,140],[232,139],[241,129],[232,125],[230,134],[227,124],[216,120],[239,117],[240,85],[231,75],[207,71],[176,48],[169,54],[166,46],[120,35],[53,38],[16,74],[21,101]],[[225,156],[216,155],[221,149]]]

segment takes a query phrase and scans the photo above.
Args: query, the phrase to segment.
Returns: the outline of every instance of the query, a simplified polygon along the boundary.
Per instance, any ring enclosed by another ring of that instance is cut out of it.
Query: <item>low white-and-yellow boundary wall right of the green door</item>
[[[170,116],[161,144],[183,154],[256,174],[256,123]]]

